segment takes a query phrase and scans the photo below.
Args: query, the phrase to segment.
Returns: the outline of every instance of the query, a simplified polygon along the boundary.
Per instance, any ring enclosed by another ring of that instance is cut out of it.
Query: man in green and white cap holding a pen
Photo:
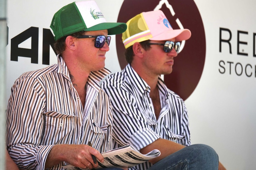
[[[125,23],[108,23],[94,1],[74,2],[50,25],[58,63],[22,74],[11,89],[6,145],[19,169],[92,169],[92,155],[111,150],[112,106],[99,81],[110,36]],[[92,147],[88,144],[92,143]]]

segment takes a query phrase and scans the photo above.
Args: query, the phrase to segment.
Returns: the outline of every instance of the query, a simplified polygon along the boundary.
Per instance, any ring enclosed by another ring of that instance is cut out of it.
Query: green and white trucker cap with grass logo
[[[80,1],[68,4],[57,11],[50,28],[54,39],[80,31],[108,30],[108,35],[121,34],[127,29],[122,22],[107,22],[95,1]]]

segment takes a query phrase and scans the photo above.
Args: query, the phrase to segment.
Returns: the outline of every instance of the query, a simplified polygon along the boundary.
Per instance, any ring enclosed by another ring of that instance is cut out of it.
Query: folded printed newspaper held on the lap
[[[131,145],[126,145],[120,148],[116,148],[102,153],[104,162],[99,162],[99,166],[95,169],[118,167],[121,169],[128,169],[132,166],[136,166],[140,163],[149,161],[153,158],[160,156],[160,151],[157,149],[152,150],[147,154],[142,154]],[[74,167],[70,164],[62,166],[65,170],[83,170],[78,167]]]

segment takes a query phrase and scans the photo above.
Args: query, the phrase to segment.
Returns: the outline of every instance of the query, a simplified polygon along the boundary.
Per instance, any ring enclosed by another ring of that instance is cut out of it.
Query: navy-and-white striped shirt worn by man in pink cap
[[[189,121],[184,101],[169,90],[160,76],[157,87],[161,111],[156,119],[150,87],[128,64],[102,82],[101,87],[110,96],[113,105],[113,139],[120,145],[133,145],[140,150],[162,138],[188,146]],[[142,163],[131,169],[148,169],[152,164]]]

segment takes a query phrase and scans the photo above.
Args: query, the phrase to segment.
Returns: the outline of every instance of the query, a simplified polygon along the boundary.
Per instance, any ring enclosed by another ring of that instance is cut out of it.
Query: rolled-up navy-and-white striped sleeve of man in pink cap
[[[140,150],[160,138],[154,132],[156,123],[139,111],[128,89],[104,84],[102,88],[113,104],[113,139],[118,144],[133,145]]]

